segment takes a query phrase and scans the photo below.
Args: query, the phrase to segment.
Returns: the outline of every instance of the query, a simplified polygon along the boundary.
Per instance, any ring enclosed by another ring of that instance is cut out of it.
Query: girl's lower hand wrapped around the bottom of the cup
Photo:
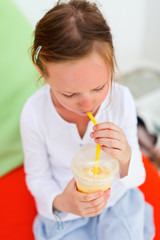
[[[58,195],[53,202],[54,209],[73,213],[81,217],[94,217],[99,215],[106,206],[110,190],[95,193],[81,193],[76,188],[73,178],[63,193]]]

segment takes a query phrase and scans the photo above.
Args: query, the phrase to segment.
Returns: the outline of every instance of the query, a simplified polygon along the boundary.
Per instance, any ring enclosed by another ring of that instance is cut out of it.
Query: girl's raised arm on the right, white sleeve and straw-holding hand
[[[133,98],[125,88],[123,106],[113,122],[93,127],[91,137],[102,145],[102,150],[115,157],[120,164],[121,182],[127,188],[136,187],[145,180],[145,170],[137,138],[137,115]],[[116,124],[117,123],[117,124]]]

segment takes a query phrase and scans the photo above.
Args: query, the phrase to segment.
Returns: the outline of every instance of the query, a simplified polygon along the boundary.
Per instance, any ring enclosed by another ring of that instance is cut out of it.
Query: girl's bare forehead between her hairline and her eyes
[[[67,91],[81,91],[97,88],[103,84],[109,74],[106,62],[98,54],[77,61],[48,63],[48,82],[55,88]]]

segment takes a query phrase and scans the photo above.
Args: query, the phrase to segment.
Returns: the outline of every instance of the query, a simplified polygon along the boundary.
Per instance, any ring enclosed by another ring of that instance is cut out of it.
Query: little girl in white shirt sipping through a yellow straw
[[[44,78],[21,115],[26,182],[35,198],[36,240],[151,240],[152,208],[137,186],[145,170],[129,90],[114,83],[110,28],[94,3],[70,0],[38,22],[32,47]],[[87,116],[91,112],[97,124]],[[82,145],[101,144],[119,161],[111,191],[78,192],[71,162]]]

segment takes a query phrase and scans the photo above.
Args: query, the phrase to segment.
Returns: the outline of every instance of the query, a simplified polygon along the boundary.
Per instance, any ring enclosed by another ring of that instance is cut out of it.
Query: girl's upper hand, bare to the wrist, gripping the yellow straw
[[[121,175],[128,172],[131,158],[131,148],[127,139],[117,125],[111,122],[99,123],[93,127],[94,132],[90,134],[96,143],[101,144],[101,149],[115,157],[120,164]]]

